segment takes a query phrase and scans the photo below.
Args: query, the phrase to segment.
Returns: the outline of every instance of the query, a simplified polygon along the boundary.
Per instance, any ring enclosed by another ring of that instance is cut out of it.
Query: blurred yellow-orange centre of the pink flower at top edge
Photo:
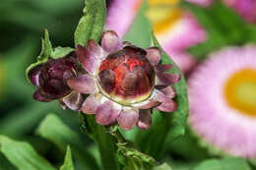
[[[181,17],[179,0],[148,0],[147,16],[156,33],[171,28]]]

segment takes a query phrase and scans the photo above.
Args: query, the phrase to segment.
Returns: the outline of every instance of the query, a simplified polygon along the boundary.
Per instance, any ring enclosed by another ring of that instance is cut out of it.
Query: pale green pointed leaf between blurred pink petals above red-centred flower
[[[147,48],[151,45],[151,23],[146,17],[148,10],[147,1],[144,1],[131,28],[126,32],[123,40],[129,41],[137,46]],[[139,38],[138,38],[139,37]]]

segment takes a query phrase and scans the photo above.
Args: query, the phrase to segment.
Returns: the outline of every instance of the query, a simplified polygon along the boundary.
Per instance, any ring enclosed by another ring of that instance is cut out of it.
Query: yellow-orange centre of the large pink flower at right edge
[[[244,69],[225,83],[224,97],[228,105],[241,113],[256,116],[256,69]]]

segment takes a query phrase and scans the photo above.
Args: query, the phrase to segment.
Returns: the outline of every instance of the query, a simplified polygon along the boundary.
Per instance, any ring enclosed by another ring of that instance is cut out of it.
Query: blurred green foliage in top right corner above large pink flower
[[[186,2],[182,5],[196,16],[200,25],[207,31],[207,40],[188,50],[197,59],[204,59],[209,52],[226,45],[256,42],[256,27],[245,23],[236,12],[224,6],[221,0],[214,1],[209,8]]]

